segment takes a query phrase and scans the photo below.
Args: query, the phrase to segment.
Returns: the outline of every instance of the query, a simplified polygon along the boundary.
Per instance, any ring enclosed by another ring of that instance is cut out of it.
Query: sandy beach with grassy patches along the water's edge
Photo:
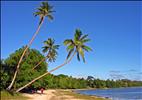
[[[121,87],[127,88],[127,87]],[[134,87],[131,87],[134,88]],[[142,88],[142,87],[141,87]],[[108,88],[112,89],[112,88]],[[2,100],[111,100],[109,97],[98,95],[82,94],[78,91],[97,90],[96,88],[88,89],[47,89],[43,94],[38,90],[37,93],[14,93],[1,91]]]

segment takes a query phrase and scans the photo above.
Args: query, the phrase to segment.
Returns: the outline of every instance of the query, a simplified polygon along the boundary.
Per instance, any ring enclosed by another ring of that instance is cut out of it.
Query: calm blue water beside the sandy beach
[[[86,95],[107,97],[112,100],[142,100],[142,87],[77,90],[76,92]]]

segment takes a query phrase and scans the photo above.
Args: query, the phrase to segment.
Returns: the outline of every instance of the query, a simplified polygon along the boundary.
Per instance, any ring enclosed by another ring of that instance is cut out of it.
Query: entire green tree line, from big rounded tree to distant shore
[[[47,46],[47,45],[46,45]],[[14,53],[10,54],[10,56],[4,60],[1,60],[1,89],[6,89],[9,83],[12,80],[12,75],[14,74],[15,66],[18,63],[18,59],[22,54],[25,47],[22,47],[16,50]],[[44,48],[45,49],[45,48]],[[44,50],[43,49],[43,50]],[[26,56],[24,58],[24,62],[22,62],[21,67],[19,69],[20,73],[14,82],[12,87],[13,90],[20,88],[25,85],[33,78],[47,72],[48,64],[46,60],[41,62],[41,64],[33,70],[33,66],[37,65],[39,61],[42,59],[46,59],[38,50],[36,49],[28,49]],[[48,59],[47,59],[48,60]],[[26,74],[25,74],[26,73]],[[119,88],[119,87],[135,87],[142,86],[142,81],[132,81],[128,79],[121,80],[101,80],[96,79],[93,76],[88,76],[85,78],[74,78],[72,76],[67,75],[53,75],[49,74],[48,76],[44,76],[40,80],[34,82],[29,85],[25,89],[30,88],[60,88],[60,89],[82,89],[82,88]]]

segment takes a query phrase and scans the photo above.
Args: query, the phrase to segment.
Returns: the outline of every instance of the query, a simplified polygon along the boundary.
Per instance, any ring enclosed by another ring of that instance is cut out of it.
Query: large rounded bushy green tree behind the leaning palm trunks
[[[2,78],[3,88],[7,87],[7,84],[12,79],[12,76],[16,70],[16,66],[18,64],[18,61],[21,57],[21,54],[23,53],[25,47],[22,47],[18,50],[16,50],[14,53],[12,53],[5,61],[4,64],[2,64]],[[35,49],[28,49],[28,52],[26,53],[20,69],[18,71],[18,76],[16,78],[16,81],[13,85],[13,88],[18,88],[32,80],[33,78],[41,75],[42,73],[45,73],[47,71],[47,63],[44,61],[42,62],[36,70],[31,71],[33,66],[35,66],[41,59],[43,59],[44,56]],[[31,87],[39,87],[43,85],[43,80],[36,81],[34,84],[31,85]]]

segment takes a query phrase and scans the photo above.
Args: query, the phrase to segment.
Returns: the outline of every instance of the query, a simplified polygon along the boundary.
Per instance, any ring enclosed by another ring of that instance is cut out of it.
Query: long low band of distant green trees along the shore
[[[101,79],[84,79],[73,78],[67,75],[50,74],[44,78],[45,88],[60,89],[82,89],[82,88],[119,88],[119,87],[135,87],[142,86],[142,81],[132,80],[101,80]],[[127,85],[126,85],[127,84]]]

